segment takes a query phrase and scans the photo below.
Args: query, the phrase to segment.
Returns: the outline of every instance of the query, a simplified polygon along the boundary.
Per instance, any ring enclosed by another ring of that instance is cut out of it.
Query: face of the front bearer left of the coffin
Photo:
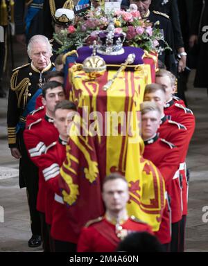
[[[71,121],[69,121],[69,113],[73,113],[73,110],[69,109],[57,109],[55,110],[55,120],[54,125],[58,129],[58,132],[63,140],[67,140],[67,126]]]

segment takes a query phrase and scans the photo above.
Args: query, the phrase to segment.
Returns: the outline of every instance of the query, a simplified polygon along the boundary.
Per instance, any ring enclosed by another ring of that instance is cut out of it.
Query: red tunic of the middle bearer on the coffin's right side
[[[169,121],[166,117],[162,119],[159,127],[159,137],[166,139],[177,146],[180,161],[187,145],[188,132],[186,127],[175,122]],[[172,223],[178,222],[182,218],[182,185],[179,177],[179,170],[176,171],[173,181],[167,186],[168,195],[171,197]]]

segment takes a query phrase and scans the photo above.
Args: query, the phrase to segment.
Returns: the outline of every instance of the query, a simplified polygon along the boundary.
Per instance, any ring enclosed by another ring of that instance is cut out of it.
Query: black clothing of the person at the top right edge
[[[208,35],[207,29],[202,32],[202,28],[208,25],[208,0],[205,0],[205,8],[203,8],[203,0],[193,1],[193,14],[191,34],[198,35],[198,62],[196,66],[196,78],[194,80],[194,87],[208,88],[207,80],[207,60],[208,60]],[[203,11],[202,11],[203,10]],[[201,23],[200,23],[200,16]],[[200,27],[199,27],[200,26]],[[207,91],[208,92],[208,91]]]

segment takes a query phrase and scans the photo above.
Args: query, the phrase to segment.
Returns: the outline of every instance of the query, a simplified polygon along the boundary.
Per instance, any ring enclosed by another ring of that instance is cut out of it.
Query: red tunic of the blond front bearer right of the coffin
[[[179,168],[179,150],[172,143],[158,138],[156,135],[153,139],[144,141],[145,149],[143,157],[153,161],[164,177],[166,187],[173,181],[173,176]],[[166,207],[162,215],[162,222],[159,231],[155,235],[162,244],[171,242],[171,208],[166,198]]]

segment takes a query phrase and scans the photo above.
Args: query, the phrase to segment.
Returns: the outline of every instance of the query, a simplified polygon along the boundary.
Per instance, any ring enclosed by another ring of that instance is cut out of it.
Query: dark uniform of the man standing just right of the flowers
[[[173,30],[171,25],[171,20],[168,19],[168,15],[163,14],[158,11],[150,11],[150,15],[147,17],[150,22],[153,24],[156,21],[159,21],[159,29],[161,30],[162,34],[164,35],[164,39],[168,43],[168,45],[174,49],[174,41],[173,41]],[[164,47],[164,42],[160,41],[160,46]],[[175,56],[173,51],[166,50],[162,54],[159,54],[159,60],[161,60],[165,65],[166,68],[175,74],[176,72],[176,64],[175,64]]]

